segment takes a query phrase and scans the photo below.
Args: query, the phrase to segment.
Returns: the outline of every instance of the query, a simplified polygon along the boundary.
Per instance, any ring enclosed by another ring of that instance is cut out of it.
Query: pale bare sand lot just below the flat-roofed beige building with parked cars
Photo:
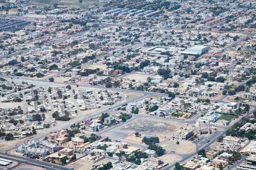
[[[176,142],[177,139],[171,139],[167,142],[163,142],[163,144],[160,144],[160,146],[166,149],[166,151],[175,150],[175,153],[178,154],[189,154],[195,152],[195,144],[193,144],[191,141],[179,140],[180,144],[176,144]]]

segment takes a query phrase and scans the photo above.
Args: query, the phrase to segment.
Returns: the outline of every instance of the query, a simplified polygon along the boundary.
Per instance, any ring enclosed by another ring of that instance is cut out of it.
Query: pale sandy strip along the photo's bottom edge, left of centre
[[[92,162],[88,162],[88,161],[79,159],[78,161],[68,164],[67,167],[74,168],[75,170],[89,170],[91,167],[93,167],[93,165],[106,164],[109,161],[113,162],[114,160],[113,159],[103,159],[103,160],[93,164]]]

